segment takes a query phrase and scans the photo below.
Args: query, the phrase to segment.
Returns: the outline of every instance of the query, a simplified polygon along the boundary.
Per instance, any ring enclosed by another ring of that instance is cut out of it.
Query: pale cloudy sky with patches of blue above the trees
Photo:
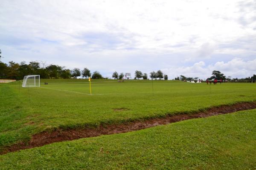
[[[207,78],[256,74],[256,0],[1,0],[2,61]]]

